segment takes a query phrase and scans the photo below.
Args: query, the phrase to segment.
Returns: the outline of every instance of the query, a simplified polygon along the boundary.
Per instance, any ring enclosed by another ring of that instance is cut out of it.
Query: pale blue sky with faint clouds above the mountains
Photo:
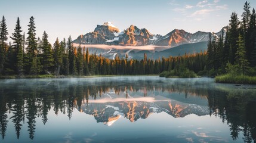
[[[248,1],[256,8],[256,1]],[[44,30],[49,41],[92,32],[97,24],[111,21],[120,30],[131,24],[152,34],[166,35],[174,29],[187,32],[218,32],[229,23],[233,11],[242,15],[243,0],[0,0],[0,16],[14,32],[17,17],[27,33],[29,17],[35,18],[36,36]],[[26,35],[27,36],[27,35]],[[8,39],[10,41],[10,38]]]

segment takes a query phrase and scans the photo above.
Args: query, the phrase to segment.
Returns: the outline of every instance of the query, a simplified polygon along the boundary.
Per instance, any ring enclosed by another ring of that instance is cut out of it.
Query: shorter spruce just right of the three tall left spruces
[[[48,42],[48,35],[44,31],[42,35],[42,66],[44,73],[49,73],[50,68],[53,67],[53,53],[51,51],[51,44]]]

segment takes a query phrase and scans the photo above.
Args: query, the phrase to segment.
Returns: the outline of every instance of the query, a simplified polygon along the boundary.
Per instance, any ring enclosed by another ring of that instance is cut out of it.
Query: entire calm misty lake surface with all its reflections
[[[155,76],[0,80],[0,142],[255,142],[256,86]]]

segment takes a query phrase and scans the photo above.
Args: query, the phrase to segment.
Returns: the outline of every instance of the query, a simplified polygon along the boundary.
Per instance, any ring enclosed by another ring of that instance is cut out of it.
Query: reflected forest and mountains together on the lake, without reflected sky
[[[20,138],[27,125],[29,138],[36,138],[36,122],[48,122],[48,113],[74,110],[94,116],[111,126],[121,117],[130,122],[154,113],[175,118],[189,114],[215,116],[230,128],[233,141],[256,138],[256,86],[224,85],[213,79],[164,79],[159,77],[95,77],[88,79],[0,80],[0,132],[8,128]]]

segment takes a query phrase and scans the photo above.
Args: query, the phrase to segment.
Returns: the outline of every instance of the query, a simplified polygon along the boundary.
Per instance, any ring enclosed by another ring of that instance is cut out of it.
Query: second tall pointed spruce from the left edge
[[[17,18],[16,27],[14,29],[13,36],[11,36],[11,39],[14,43],[14,66],[15,71],[17,74],[21,75],[23,74],[23,36],[21,35],[21,26],[20,26],[20,18]],[[11,59],[10,59],[11,60]]]

